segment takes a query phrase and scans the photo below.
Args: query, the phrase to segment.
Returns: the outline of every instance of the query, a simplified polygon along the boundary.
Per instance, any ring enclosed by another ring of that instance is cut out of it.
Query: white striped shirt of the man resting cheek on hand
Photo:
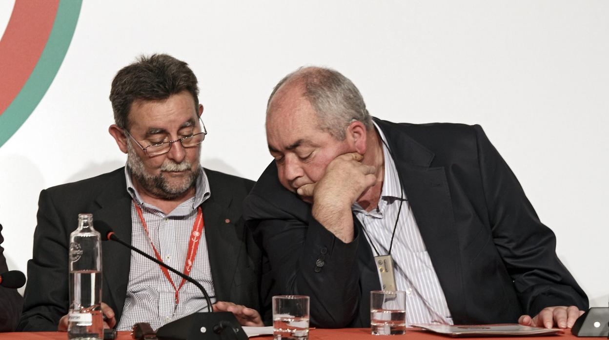
[[[382,141],[386,142],[381,129],[376,126],[376,130]],[[385,175],[378,207],[367,212],[355,203],[351,209],[362,223],[365,229],[363,236],[370,243],[375,256],[387,255],[395,219],[400,209],[400,196],[403,194],[400,220],[395,231],[391,256],[396,289],[406,291],[406,322],[407,324],[452,324],[446,297],[421,238],[406,193],[403,193],[395,162],[385,144],[382,148]],[[375,248],[381,254],[376,254]]]

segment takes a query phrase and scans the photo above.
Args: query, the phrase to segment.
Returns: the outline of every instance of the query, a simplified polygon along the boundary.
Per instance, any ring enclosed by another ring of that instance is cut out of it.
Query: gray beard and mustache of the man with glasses
[[[200,167],[197,167],[194,172],[190,172],[188,178],[186,178],[181,186],[171,186],[163,177],[163,173],[153,176],[146,172],[144,162],[142,162],[135,152],[131,141],[127,142],[127,149],[127,167],[129,168],[131,175],[138,181],[139,185],[158,198],[167,200],[180,198],[180,196],[184,195],[184,193],[195,186],[197,177],[200,173]],[[163,165],[161,165],[161,171],[185,171],[191,170],[191,167],[192,164],[189,161],[183,161],[178,164],[166,159],[163,162]]]

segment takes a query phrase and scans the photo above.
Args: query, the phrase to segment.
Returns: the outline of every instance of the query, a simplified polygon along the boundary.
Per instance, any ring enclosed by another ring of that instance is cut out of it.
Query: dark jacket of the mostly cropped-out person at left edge
[[[2,224],[0,224],[0,245],[2,237]],[[0,274],[9,271],[4,258],[4,248],[0,246]],[[0,286],[0,331],[13,331],[17,327],[21,308],[23,307],[23,297],[15,289]]]

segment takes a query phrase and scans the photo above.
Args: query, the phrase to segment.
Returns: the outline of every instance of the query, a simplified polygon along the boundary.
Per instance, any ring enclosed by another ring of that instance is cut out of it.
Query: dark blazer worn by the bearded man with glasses
[[[205,169],[211,196],[202,204],[211,276],[217,300],[260,310],[260,251],[244,227],[241,204],[253,181]],[[68,245],[79,213],[93,213],[118,237],[131,242],[131,196],[125,169],[43,190],[38,203],[33,258],[27,265],[23,315],[19,330],[57,330],[68,313]],[[227,223],[227,221],[230,222]],[[131,251],[116,242],[102,243],[102,300],[121,318]]]

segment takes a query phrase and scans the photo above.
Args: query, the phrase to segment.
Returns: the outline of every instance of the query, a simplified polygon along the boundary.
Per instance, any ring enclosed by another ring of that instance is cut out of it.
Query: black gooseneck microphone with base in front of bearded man
[[[192,277],[183,274],[180,271],[167,266],[165,263],[160,262],[156,258],[146,254],[145,252],[135,248],[134,246],[122,241],[114,232],[112,228],[104,221],[95,221],[95,229],[99,231],[103,241],[112,240],[120,243],[121,245],[138,252],[138,254],[152,260],[158,265],[164,266],[180,277],[191,282],[205,296],[207,302],[207,308],[209,313],[193,313],[185,317],[181,317],[175,321],[169,322],[157,330],[157,338],[159,340],[220,340],[220,339],[231,339],[231,340],[247,340],[245,331],[241,328],[241,325],[234,317],[233,313],[230,312],[212,312],[211,310],[211,299],[203,286],[192,279]]]

